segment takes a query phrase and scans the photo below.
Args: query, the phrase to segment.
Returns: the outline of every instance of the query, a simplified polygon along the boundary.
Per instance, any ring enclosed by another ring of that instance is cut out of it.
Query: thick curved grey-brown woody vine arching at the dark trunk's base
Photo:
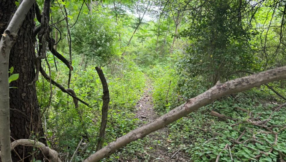
[[[50,161],[61,162],[60,158],[58,158],[58,153],[55,150],[52,150],[51,148],[45,146],[45,144],[41,142],[35,142],[34,140],[29,140],[29,139],[15,140],[10,144],[11,151],[17,146],[36,146],[42,151],[42,153],[46,157],[49,157]],[[0,155],[1,155],[1,151],[0,151]]]

